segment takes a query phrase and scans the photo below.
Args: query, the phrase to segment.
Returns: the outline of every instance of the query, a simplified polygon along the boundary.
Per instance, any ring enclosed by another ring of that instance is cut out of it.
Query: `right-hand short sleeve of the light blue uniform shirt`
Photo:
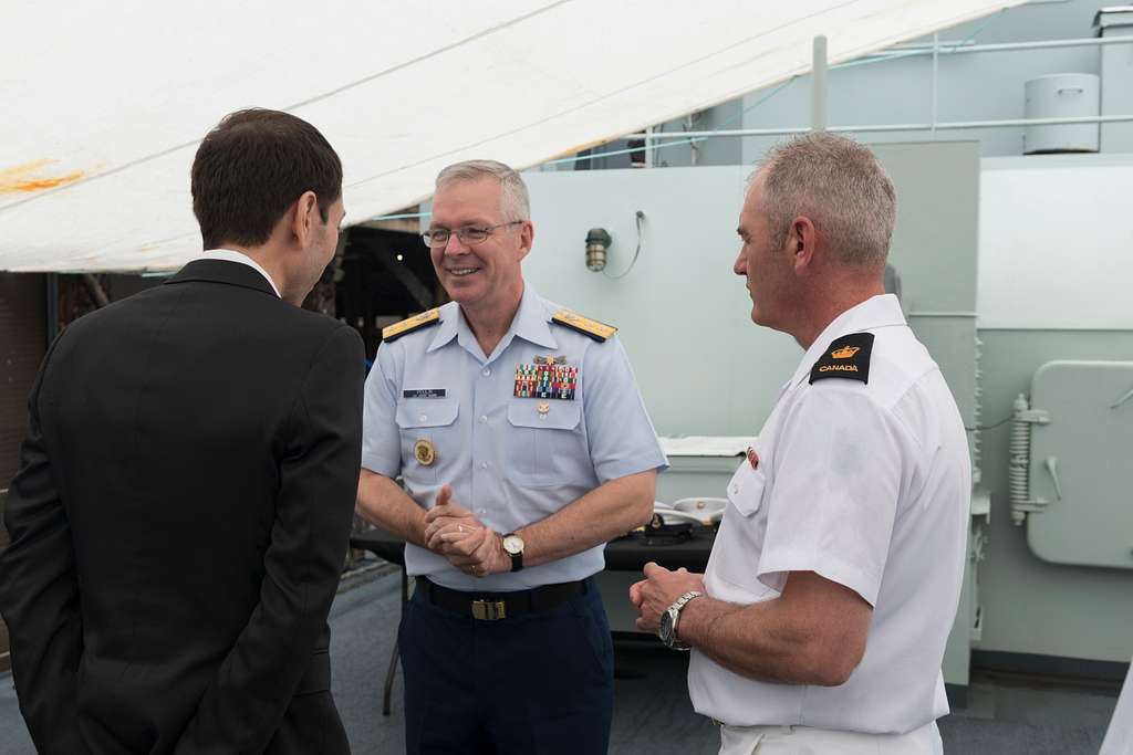
[[[590,461],[599,482],[668,467],[616,336],[587,350],[582,391]]]

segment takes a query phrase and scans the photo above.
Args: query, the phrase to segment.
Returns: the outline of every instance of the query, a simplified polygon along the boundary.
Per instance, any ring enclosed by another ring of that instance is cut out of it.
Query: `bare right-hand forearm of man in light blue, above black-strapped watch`
[[[551,516],[518,531],[523,565],[538,566],[610,542],[653,515],[657,473],[653,470],[611,480]]]

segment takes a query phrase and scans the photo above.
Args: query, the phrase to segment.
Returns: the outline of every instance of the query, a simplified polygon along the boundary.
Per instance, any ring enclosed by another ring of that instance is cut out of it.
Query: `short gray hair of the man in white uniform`
[[[809,217],[846,266],[885,267],[897,216],[893,181],[869,147],[843,136],[815,131],[767,153],[763,204],[778,249],[791,221]]]

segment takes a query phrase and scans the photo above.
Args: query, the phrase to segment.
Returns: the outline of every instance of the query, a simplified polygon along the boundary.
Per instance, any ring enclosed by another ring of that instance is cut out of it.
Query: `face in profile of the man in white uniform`
[[[757,325],[784,331],[793,309],[792,290],[794,275],[789,233],[783,248],[772,246],[772,229],[767,213],[761,206],[764,177],[760,173],[743,201],[740,212],[740,254],[732,272],[747,278],[748,294],[751,297],[751,320]]]

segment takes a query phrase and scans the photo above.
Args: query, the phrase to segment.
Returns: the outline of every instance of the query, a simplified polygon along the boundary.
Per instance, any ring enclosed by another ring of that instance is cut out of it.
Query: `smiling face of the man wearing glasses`
[[[431,230],[452,231],[444,247],[431,247],[437,280],[449,297],[465,309],[492,311],[522,295],[520,261],[531,249],[531,223],[494,229],[487,239],[469,246],[457,231],[466,226],[491,228],[518,221],[504,217],[500,181],[485,177],[455,181],[437,189],[433,198]]]

